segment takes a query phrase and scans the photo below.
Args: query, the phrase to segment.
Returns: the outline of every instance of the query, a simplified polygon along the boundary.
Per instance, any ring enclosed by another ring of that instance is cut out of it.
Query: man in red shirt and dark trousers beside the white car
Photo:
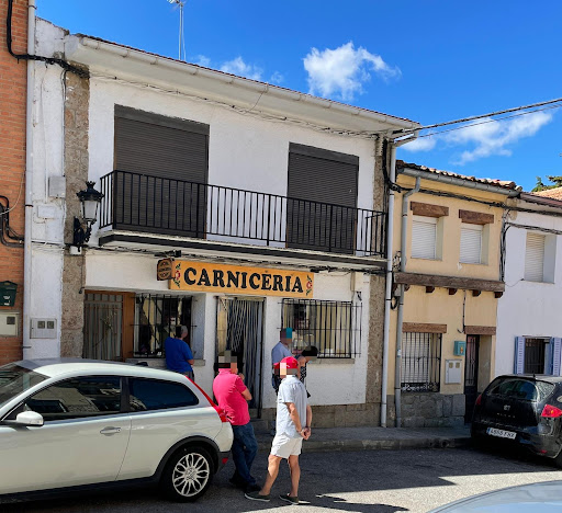
[[[238,374],[239,355],[226,351],[218,357],[218,375],[213,381],[213,394],[233,426],[233,460],[236,471],[231,482],[245,493],[259,490],[250,469],[258,452],[258,442],[250,422],[248,402],[251,394],[244,385],[244,375]],[[241,366],[241,365],[240,365]]]

